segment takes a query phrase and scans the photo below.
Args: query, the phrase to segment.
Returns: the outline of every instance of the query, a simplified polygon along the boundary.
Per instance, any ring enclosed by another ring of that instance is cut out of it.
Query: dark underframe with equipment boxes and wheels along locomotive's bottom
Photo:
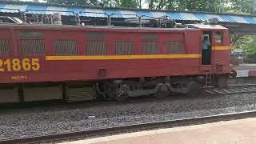
[[[229,74],[211,74],[211,86],[226,86]],[[206,75],[123,78],[83,82],[38,82],[0,85],[0,103],[59,100],[79,102],[129,97],[165,98],[171,93],[196,95],[206,86]]]

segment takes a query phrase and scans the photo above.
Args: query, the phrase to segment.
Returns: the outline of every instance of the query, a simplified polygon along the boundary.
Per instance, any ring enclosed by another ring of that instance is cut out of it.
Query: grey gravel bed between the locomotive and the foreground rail
[[[167,98],[79,109],[18,110],[0,113],[0,140],[246,110],[256,110],[256,94]]]

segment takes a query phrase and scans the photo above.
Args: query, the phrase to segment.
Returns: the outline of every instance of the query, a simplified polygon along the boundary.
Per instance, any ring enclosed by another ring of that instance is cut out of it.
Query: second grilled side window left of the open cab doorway
[[[142,41],[142,54],[159,54],[159,42]]]

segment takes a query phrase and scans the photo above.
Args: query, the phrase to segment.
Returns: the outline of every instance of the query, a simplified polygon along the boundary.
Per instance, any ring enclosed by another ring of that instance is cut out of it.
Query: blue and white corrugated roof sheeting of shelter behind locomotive
[[[55,12],[62,15],[74,15],[80,13],[86,17],[101,17],[106,18],[107,14],[111,14],[113,18],[136,18],[136,16],[144,17],[161,17],[164,15],[170,16],[174,20],[181,21],[206,21],[210,18],[218,18],[219,22],[233,22],[256,24],[256,18],[249,15],[234,15],[234,14],[207,14],[198,12],[170,12],[170,11],[150,11],[150,10],[123,10],[123,9],[101,9],[90,7],[76,6],[47,6],[36,4],[15,4],[10,2],[0,2],[0,12],[3,13],[18,13],[26,12],[28,14],[54,14]]]

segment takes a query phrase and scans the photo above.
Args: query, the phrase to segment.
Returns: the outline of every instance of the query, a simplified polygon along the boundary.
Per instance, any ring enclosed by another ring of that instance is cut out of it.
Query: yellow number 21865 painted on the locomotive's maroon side
[[[20,70],[40,70],[40,64],[38,58],[13,58],[13,59],[0,59],[0,72],[11,72],[11,71],[20,71]]]

